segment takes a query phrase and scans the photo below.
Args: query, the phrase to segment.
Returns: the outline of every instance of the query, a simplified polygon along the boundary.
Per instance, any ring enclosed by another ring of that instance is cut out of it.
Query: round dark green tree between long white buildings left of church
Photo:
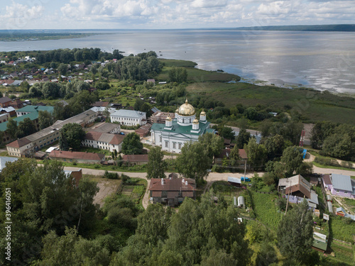
[[[60,128],[59,147],[60,150],[78,150],[85,138],[85,131],[77,123],[67,123]]]

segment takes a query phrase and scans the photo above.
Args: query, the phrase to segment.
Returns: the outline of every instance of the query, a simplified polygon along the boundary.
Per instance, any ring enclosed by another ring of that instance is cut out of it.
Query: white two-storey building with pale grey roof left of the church
[[[121,109],[111,113],[111,122],[119,122],[124,126],[143,126],[147,118],[144,112]]]

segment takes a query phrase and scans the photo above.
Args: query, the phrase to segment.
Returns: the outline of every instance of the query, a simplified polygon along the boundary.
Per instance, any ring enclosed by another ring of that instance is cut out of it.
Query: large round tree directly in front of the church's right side
[[[184,177],[196,179],[196,182],[207,177],[207,170],[211,168],[212,158],[202,143],[187,142],[181,149],[176,160],[178,172]]]

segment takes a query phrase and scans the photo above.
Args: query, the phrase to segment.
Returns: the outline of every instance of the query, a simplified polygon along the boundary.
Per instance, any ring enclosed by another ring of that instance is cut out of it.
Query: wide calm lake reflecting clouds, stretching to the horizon
[[[355,33],[231,29],[92,33],[101,34],[75,39],[0,42],[0,50],[86,47],[107,52],[119,49],[124,55],[154,50],[158,57],[192,60],[203,70],[224,70],[238,74],[246,82],[283,87],[303,85],[355,94]]]

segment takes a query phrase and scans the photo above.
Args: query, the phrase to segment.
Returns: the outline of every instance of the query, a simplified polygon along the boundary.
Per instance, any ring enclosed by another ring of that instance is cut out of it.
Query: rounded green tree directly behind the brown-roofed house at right
[[[301,149],[297,146],[290,146],[283,151],[281,162],[285,167],[286,177],[291,177],[293,173],[297,172],[302,165],[303,157]]]

